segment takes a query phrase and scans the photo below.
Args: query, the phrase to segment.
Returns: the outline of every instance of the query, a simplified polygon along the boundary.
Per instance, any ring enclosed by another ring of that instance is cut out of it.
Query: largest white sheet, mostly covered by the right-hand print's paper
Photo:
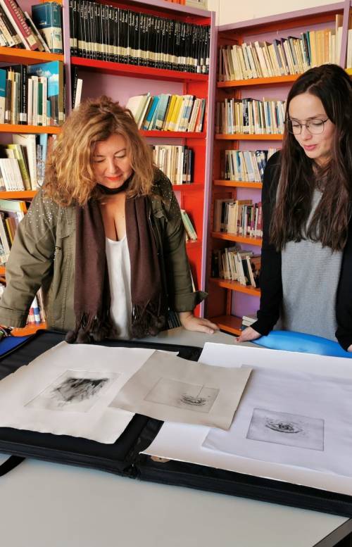
[[[344,358],[237,345],[206,344],[200,360],[212,365],[239,367],[246,363],[251,366],[270,367],[288,372],[300,370],[352,379],[351,361]],[[352,495],[352,479],[349,477],[292,465],[268,463],[204,448],[202,444],[209,431],[208,427],[167,422],[144,453]]]

